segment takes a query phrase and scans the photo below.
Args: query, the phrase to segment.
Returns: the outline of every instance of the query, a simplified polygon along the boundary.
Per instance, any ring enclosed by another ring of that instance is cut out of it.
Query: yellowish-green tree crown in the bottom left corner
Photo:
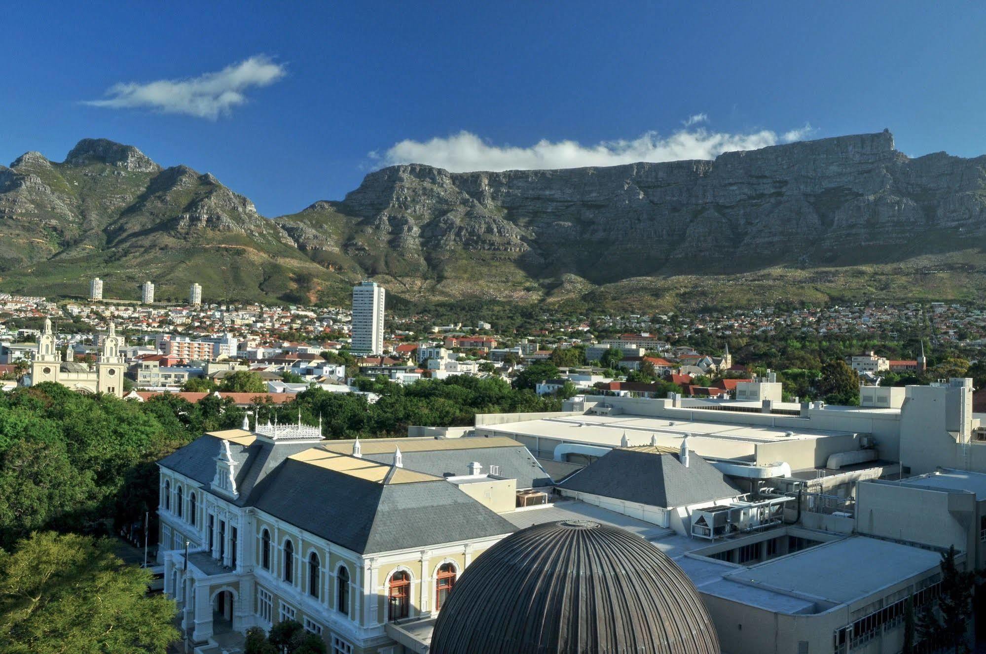
[[[148,597],[151,572],[112,544],[34,534],[0,552],[0,642],[10,654],[164,654],[177,639],[175,602]]]

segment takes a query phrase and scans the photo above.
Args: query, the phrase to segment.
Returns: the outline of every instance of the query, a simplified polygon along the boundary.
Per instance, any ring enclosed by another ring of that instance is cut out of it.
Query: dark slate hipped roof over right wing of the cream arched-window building
[[[513,524],[445,480],[380,484],[289,459],[255,506],[360,554],[499,536]]]

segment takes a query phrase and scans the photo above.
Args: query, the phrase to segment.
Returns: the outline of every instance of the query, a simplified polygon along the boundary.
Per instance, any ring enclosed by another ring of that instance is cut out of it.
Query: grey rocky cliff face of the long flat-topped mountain
[[[884,131],[711,162],[469,173],[400,165],[367,175],[343,207],[398,251],[508,250],[534,276],[610,282],[961,246],[986,235],[984,163],[910,160]]]

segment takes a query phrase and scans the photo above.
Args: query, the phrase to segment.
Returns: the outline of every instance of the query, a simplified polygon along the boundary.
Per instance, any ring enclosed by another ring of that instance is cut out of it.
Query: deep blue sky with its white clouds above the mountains
[[[986,154],[986,7],[859,4],[13,3],[0,162],[106,137],[276,216],[411,160],[712,157],[884,127],[911,156]]]

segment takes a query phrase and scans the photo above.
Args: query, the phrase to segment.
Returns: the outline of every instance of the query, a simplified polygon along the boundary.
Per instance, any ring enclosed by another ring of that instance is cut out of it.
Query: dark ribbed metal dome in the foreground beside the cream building
[[[439,613],[433,654],[719,654],[694,585],[623,529],[528,527],[478,556]]]

